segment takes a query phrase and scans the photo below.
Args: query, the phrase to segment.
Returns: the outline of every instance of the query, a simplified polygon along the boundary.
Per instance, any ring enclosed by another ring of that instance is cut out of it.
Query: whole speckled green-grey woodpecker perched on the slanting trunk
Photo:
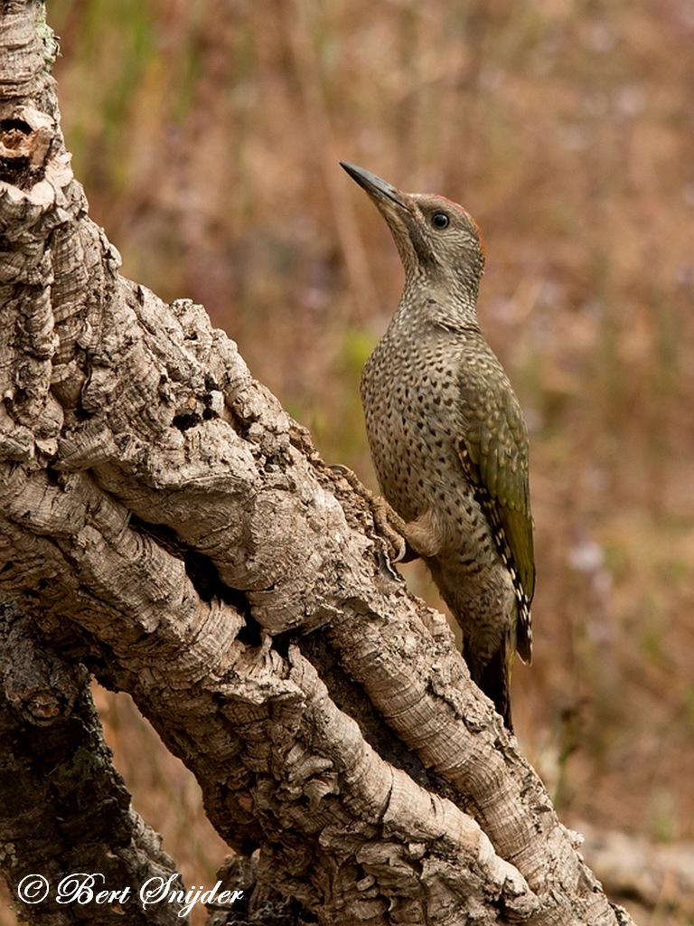
[[[462,628],[473,680],[513,729],[514,652],[529,662],[532,648],[527,431],[477,323],[481,236],[461,206],[343,167],[388,222],[405,269],[361,382],[378,482]]]

